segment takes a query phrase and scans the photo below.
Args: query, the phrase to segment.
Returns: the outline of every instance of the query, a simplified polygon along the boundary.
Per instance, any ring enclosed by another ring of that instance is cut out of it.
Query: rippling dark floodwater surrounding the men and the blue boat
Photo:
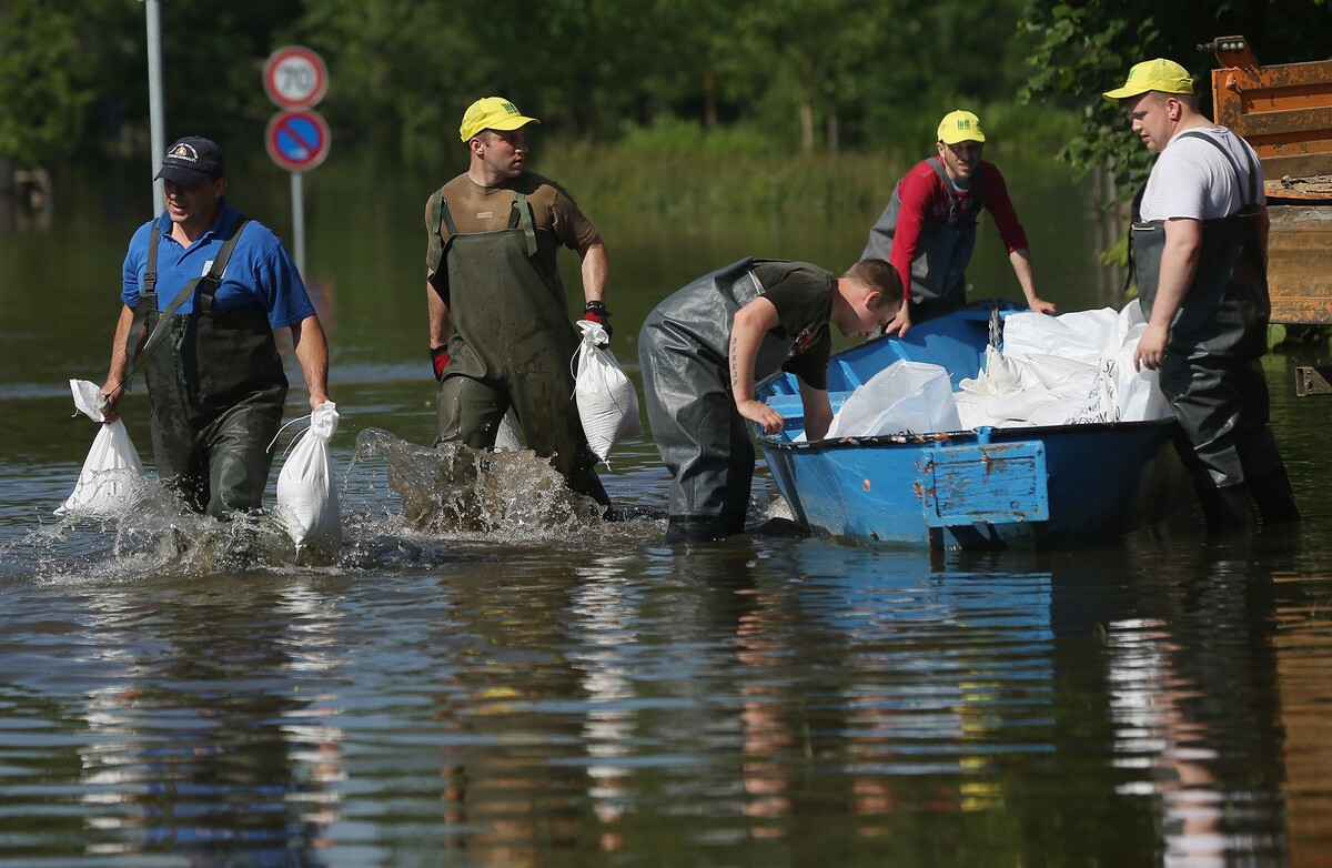
[[[766,530],[761,469],[755,533],[666,547],[649,434],[603,469],[618,521],[530,454],[426,449],[416,200],[440,180],[368,208],[392,218],[360,244],[313,214],[336,552],[152,485],[119,521],[53,515],[97,430],[67,381],[105,374],[141,217],[67,212],[75,253],[0,238],[0,864],[1332,863],[1332,402],[1291,387],[1325,347],[1267,359],[1297,529],[852,546]],[[1010,186],[1042,294],[1122,304],[1070,190]],[[839,270],[875,216],[706,242],[613,222],[613,349],[634,361],[655,300],[741,256]],[[998,242],[976,256],[1018,297]],[[151,477],[147,398],[124,414]]]

